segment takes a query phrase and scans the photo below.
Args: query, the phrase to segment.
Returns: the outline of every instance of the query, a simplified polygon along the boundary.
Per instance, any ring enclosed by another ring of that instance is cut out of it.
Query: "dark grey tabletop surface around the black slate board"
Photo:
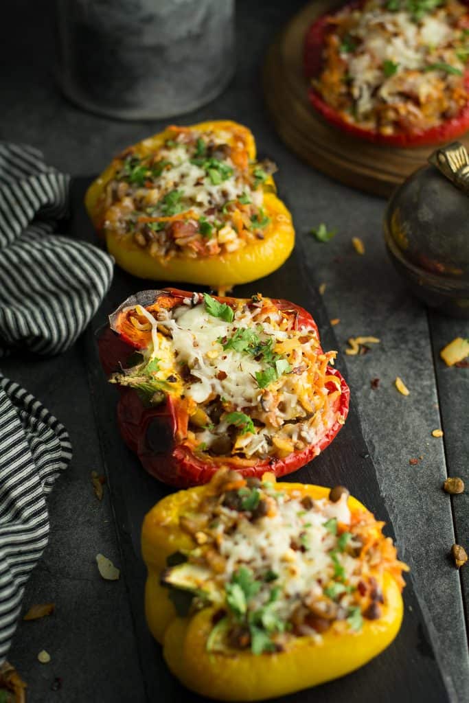
[[[469,369],[446,370],[437,354],[453,337],[467,336],[467,327],[462,322],[431,316],[432,347],[425,308],[409,296],[387,259],[382,233],[385,202],[340,186],[303,165],[274,133],[262,103],[259,67],[269,41],[301,5],[301,0],[291,0],[288,4],[239,0],[236,76],[221,98],[181,122],[191,124],[210,117],[232,117],[252,128],[259,153],[269,155],[280,166],[276,176],[278,188],[293,211],[304,260],[314,272],[315,280],[327,284],[323,299],[328,316],[340,318],[334,328],[338,346],[344,349],[348,337],[357,335],[376,335],[381,339],[366,356],[346,357],[346,378],[359,408],[364,437],[377,468],[401,557],[412,567],[422,605],[428,610],[432,640],[438,645],[444,672],[452,679],[458,691],[456,696],[462,702],[469,690],[461,596],[463,572],[460,576],[447,555],[454,541],[453,518],[456,518],[458,539],[461,542],[465,539],[468,547],[469,506],[467,496],[456,496],[451,506],[441,484],[446,474],[467,472]],[[51,163],[74,175],[94,174],[122,147],[163,126],[162,122],[113,122],[81,112],[67,103],[53,81],[51,3],[18,0],[8,7],[9,19],[3,20],[8,31],[0,44],[2,137],[32,143],[44,150]],[[23,21],[26,13],[28,22]],[[328,244],[320,244],[309,235],[311,228],[320,222],[338,228]],[[364,241],[364,256],[354,252],[352,236]],[[136,282],[135,290],[138,288]],[[283,295],[283,291],[278,294]],[[120,302],[116,299],[113,304],[117,306]],[[327,336],[328,329],[321,331],[326,333],[325,346],[332,347],[335,342]],[[118,566],[130,565],[136,574],[142,567],[136,559],[129,561],[137,548],[132,546],[130,536],[127,550],[123,555],[117,554],[112,523],[104,522],[112,520],[110,506],[96,505],[91,492],[89,472],[96,466],[99,454],[96,439],[89,437],[96,438],[96,427],[88,424],[89,394],[82,371],[78,373],[77,366],[71,365],[70,370],[67,366],[72,356],[81,359],[81,353],[82,347],[77,346],[71,356],[59,360],[39,364],[11,360],[2,364],[5,373],[23,382],[57,413],[68,426],[75,446],[74,463],[50,501],[53,523],[65,522],[70,529],[53,532],[42,564],[50,565],[54,574],[70,575],[72,566],[77,573],[86,571],[97,589],[90,601],[82,581],[75,583],[58,577],[44,581],[46,576],[40,565],[28,583],[25,606],[56,598],[63,598],[64,605],[49,621],[20,624],[11,659],[30,683],[33,703],[49,703],[56,697],[81,703],[88,698],[80,691],[87,692],[95,683],[98,693],[91,694],[91,700],[120,701],[127,696],[139,702],[144,700],[139,662],[123,634],[132,627],[122,592],[124,584],[99,581],[94,555],[101,551]],[[72,379],[68,379],[70,385],[65,386],[66,396],[59,371],[64,375],[72,373]],[[401,396],[394,388],[397,375],[411,390],[409,396]],[[371,388],[373,378],[380,378],[378,389]],[[445,436],[435,439],[431,431],[440,426]],[[418,456],[423,456],[423,460],[418,465],[409,465],[409,458]],[[314,464],[311,472],[314,478]],[[144,492],[148,485],[142,479],[135,482],[134,489]],[[79,520],[91,520],[90,511],[96,522],[89,527],[86,541],[75,529],[75,523],[77,516]],[[49,592],[49,583],[56,595]],[[98,586],[104,587],[106,595]],[[465,586],[467,594],[468,584]],[[100,619],[96,614],[98,603],[103,607]],[[118,631],[116,626],[120,628]],[[81,633],[88,628],[89,640],[83,640]],[[138,636],[148,637],[140,631]],[[50,668],[37,662],[37,652],[44,647],[53,659],[57,657],[60,671],[58,666],[52,668],[53,662]],[[150,648],[146,651],[151,657]],[[108,671],[113,676],[108,676]],[[64,687],[71,680],[73,688],[51,694],[49,679],[53,676],[63,676]],[[140,688],[133,688],[134,695],[127,695],[132,686]],[[372,698],[365,695],[364,701]]]

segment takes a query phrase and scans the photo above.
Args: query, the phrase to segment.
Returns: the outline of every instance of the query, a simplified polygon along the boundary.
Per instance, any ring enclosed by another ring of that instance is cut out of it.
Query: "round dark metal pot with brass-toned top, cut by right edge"
[[[437,149],[397,188],[384,228],[387,251],[413,293],[469,318],[469,156],[460,143]]]

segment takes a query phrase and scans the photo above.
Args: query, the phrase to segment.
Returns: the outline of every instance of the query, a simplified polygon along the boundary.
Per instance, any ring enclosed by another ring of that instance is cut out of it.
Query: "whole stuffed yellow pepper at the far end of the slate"
[[[85,203],[134,276],[231,288],[275,271],[293,250],[274,170],[256,161],[250,130],[236,122],[172,126],[115,158]]]

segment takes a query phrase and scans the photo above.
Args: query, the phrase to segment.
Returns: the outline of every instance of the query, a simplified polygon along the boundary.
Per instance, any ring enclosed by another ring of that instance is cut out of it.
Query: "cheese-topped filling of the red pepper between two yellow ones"
[[[340,380],[314,326],[261,295],[219,302],[195,293],[184,304],[127,309],[148,347],[111,380],[145,401],[168,395],[185,408],[184,443],[203,456],[284,458],[316,444],[340,414]],[[150,335],[151,333],[151,335]],[[319,449],[317,449],[319,453]]]

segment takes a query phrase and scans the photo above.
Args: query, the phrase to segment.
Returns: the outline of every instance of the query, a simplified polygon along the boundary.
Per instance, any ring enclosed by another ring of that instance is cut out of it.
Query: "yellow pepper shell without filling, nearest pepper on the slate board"
[[[280,484],[285,492],[324,498],[329,489],[304,484]],[[206,486],[167,496],[150,510],[143,522],[142,553],[148,569],[146,619],[151,633],[163,646],[163,656],[172,673],[188,688],[207,698],[255,701],[287,695],[363,666],[382,652],[397,636],[403,616],[403,603],[396,581],[385,574],[382,617],[365,620],[361,631],[323,633],[321,643],[299,637],[283,652],[254,655],[240,651],[229,657],[206,651],[212,629],[213,608],[193,617],[177,617],[167,589],[160,586],[160,572],[166,557],[176,550],[195,546],[179,528],[179,515],[191,511]],[[366,510],[355,498],[348,501],[352,511]]]

